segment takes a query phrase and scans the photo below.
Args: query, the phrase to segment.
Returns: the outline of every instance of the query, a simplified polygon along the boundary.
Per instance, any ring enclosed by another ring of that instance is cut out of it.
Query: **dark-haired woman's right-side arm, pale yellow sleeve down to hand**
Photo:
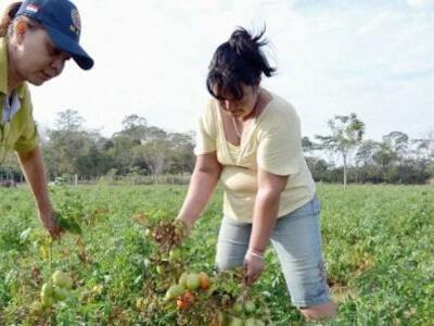
[[[289,177],[299,172],[301,162],[304,161],[301,123],[295,110],[289,104],[281,110],[276,108],[273,113],[263,121],[257,136],[258,192],[245,260],[247,283],[253,283],[264,268],[261,255],[279,217],[281,193],[286,188]]]

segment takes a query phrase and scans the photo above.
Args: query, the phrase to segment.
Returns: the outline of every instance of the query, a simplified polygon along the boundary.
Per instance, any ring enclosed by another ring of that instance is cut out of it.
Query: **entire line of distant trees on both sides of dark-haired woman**
[[[392,131],[382,140],[365,139],[365,123],[355,113],[328,122],[328,134],[304,137],[302,146],[316,181],[425,184],[434,177],[434,135],[410,139]],[[41,134],[50,179],[64,175],[102,176],[190,174],[194,167],[193,133],[168,133],[132,114],[111,137],[88,129],[77,111],[58,114]],[[21,180],[16,159],[0,165],[0,175]]]

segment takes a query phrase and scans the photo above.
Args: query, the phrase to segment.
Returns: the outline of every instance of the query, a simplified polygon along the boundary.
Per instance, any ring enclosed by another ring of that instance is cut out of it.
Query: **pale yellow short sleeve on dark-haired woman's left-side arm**
[[[201,114],[197,120],[196,126],[196,143],[194,147],[194,154],[201,155],[216,151],[216,116],[213,112],[212,102],[206,106],[206,111]]]

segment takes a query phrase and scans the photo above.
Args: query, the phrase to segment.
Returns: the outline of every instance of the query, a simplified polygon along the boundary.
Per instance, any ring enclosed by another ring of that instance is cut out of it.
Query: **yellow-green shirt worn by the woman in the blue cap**
[[[26,152],[38,145],[38,133],[33,117],[30,92],[26,83],[16,87],[21,105],[13,117],[2,123],[3,101],[8,96],[8,51],[3,37],[0,37],[0,163],[8,151]]]

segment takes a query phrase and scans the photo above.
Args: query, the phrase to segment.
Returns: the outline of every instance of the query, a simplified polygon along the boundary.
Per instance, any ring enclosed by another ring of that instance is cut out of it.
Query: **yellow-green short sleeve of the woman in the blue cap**
[[[20,138],[15,141],[13,148],[17,152],[28,152],[37,147],[39,142],[39,137],[38,129],[33,117],[30,92],[28,91],[27,87],[24,89],[24,97],[21,110],[25,110],[26,114],[21,122],[23,128],[21,130]]]

